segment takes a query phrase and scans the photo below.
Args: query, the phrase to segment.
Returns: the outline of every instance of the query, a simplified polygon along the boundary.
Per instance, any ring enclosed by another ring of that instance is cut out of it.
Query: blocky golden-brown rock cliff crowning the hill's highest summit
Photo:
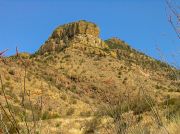
[[[91,22],[81,20],[65,24],[55,29],[51,37],[41,46],[39,52],[43,54],[50,51],[59,51],[69,45],[106,48],[107,45],[99,39],[99,33],[99,28]]]

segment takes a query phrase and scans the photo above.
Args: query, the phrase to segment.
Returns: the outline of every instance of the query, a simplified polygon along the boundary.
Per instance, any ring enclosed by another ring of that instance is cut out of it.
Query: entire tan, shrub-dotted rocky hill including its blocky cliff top
[[[10,133],[172,131],[164,122],[180,111],[179,70],[99,33],[81,20],[56,28],[35,54],[1,57],[0,104],[10,120],[1,113]]]

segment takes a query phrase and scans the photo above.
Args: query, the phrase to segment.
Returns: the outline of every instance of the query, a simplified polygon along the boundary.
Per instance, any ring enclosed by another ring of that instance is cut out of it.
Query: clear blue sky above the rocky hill
[[[102,39],[118,37],[157,59],[172,63],[180,53],[164,0],[0,0],[0,50],[33,53],[57,26],[81,19],[96,23]]]

